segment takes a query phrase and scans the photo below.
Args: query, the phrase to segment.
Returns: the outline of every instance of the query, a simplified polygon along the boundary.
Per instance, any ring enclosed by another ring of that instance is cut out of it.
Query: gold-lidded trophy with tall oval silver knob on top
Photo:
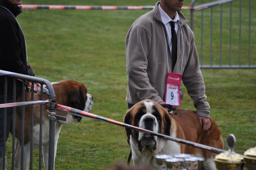
[[[234,152],[235,135],[228,134],[226,137],[226,146],[228,151],[215,156],[214,162],[217,170],[242,170],[244,167],[244,158],[242,155]]]

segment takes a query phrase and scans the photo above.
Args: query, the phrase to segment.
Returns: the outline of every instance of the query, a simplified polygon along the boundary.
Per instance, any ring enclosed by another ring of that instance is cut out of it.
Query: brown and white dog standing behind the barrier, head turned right
[[[61,104],[71,108],[84,110],[90,112],[93,105],[93,96],[87,93],[86,87],[78,82],[71,80],[62,80],[59,82],[52,83],[56,104]],[[49,96],[43,95],[43,100],[48,100]],[[34,101],[40,100],[40,94],[34,93]],[[19,96],[17,102],[22,101],[22,97]],[[25,101],[31,101],[31,92],[25,93]],[[48,152],[49,152],[49,104],[43,105],[43,127],[42,127],[42,146],[43,146],[43,158],[45,169],[48,169]],[[66,117],[66,121],[56,120],[55,122],[55,138],[54,138],[54,161],[57,150],[57,142],[62,125],[68,125],[75,122],[80,122],[81,117],[75,116],[55,110],[56,115]],[[21,169],[21,113],[22,108],[16,108],[16,133],[17,138],[15,144],[15,168]],[[31,106],[25,106],[25,131],[24,131],[24,162],[23,169],[29,169],[30,161],[30,121],[31,121]],[[34,105],[34,126],[33,126],[33,149],[39,148],[39,129],[40,129],[40,105]]]

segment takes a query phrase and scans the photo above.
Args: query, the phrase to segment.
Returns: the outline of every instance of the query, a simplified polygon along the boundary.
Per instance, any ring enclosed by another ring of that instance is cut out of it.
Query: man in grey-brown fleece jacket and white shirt
[[[144,99],[165,104],[165,89],[168,70],[182,74],[182,82],[188,95],[194,101],[196,114],[207,131],[211,127],[210,106],[206,102],[205,85],[199,67],[194,33],[188,27],[188,20],[180,12],[184,0],[161,0],[155,8],[139,17],[126,36],[126,68],[128,74],[128,106]],[[162,10],[162,13],[161,13]],[[163,12],[170,20],[178,15],[177,61],[172,67],[170,40]],[[168,60],[168,61],[167,61]]]

